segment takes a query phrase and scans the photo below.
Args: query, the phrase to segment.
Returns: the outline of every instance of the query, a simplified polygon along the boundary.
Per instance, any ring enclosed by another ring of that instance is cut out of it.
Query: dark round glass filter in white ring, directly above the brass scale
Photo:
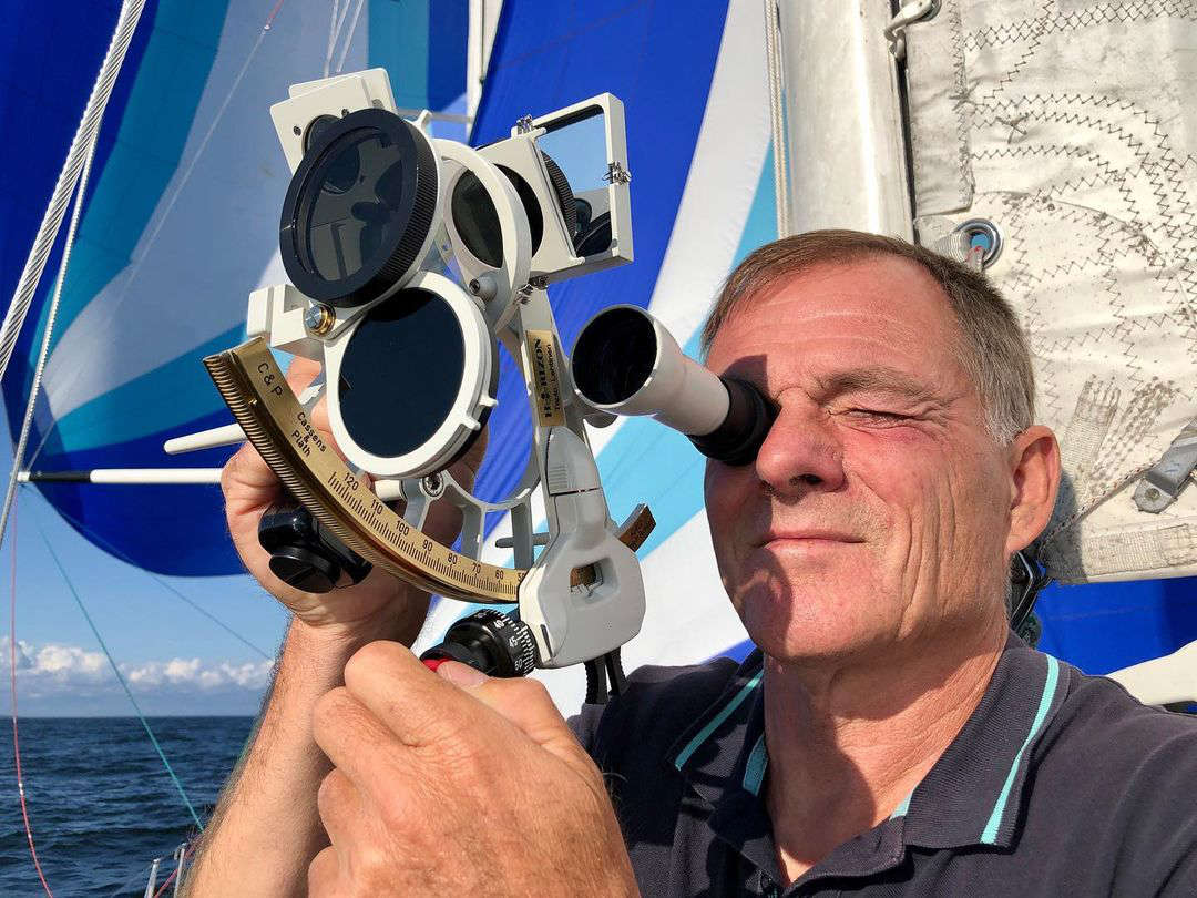
[[[414,451],[454,412],[464,365],[462,326],[449,303],[430,290],[400,290],[366,313],[345,347],[338,380],[345,429],[371,455]]]

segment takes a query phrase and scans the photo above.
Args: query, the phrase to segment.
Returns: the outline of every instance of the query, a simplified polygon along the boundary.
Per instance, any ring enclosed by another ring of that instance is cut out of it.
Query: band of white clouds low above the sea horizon
[[[0,637],[2,661],[10,656],[8,637]],[[4,665],[7,667],[7,663]],[[121,675],[134,694],[159,692],[261,692],[269,685],[273,662],[205,661],[175,657],[168,661],[121,663]],[[47,643],[32,645],[17,641],[17,682],[30,697],[50,697],[97,687],[120,690],[116,676],[101,651],[79,645]],[[105,690],[107,691],[107,690]]]

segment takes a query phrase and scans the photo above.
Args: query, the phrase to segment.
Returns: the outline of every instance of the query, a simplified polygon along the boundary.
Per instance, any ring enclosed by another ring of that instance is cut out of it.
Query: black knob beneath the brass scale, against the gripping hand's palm
[[[257,541],[271,553],[271,572],[305,593],[328,593],[342,575],[360,583],[370,563],[320,526],[303,505],[271,505],[257,523]]]

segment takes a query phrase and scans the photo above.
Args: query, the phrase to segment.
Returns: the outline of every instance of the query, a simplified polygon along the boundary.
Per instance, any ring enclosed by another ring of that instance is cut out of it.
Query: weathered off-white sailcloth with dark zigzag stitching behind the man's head
[[[1003,235],[989,273],[1061,435],[1040,556],[1064,582],[1197,574],[1197,489],[1142,506],[1197,418],[1195,53],[1192,4],[1147,0],[948,0],[909,31],[919,232]]]

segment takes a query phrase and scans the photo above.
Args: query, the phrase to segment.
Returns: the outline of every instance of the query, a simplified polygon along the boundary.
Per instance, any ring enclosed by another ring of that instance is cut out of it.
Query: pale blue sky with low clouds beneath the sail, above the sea
[[[12,450],[0,443],[7,472]],[[77,534],[31,486],[18,491],[0,552],[0,650],[10,674],[14,595],[20,716],[135,714],[80,602],[145,714],[257,712],[286,613],[248,575],[162,577],[128,565]],[[2,693],[7,715],[12,696]]]

